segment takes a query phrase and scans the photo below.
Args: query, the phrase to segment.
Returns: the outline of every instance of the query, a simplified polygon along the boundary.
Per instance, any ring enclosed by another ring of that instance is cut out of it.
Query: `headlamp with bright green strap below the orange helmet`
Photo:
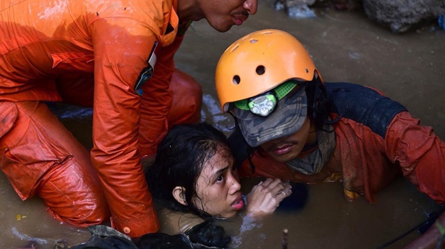
[[[266,117],[273,111],[277,102],[284,98],[298,85],[295,81],[286,81],[269,92],[234,102],[236,108]]]

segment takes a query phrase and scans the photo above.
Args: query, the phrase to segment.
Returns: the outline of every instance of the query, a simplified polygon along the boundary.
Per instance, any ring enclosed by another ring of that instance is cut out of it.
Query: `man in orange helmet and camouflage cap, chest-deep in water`
[[[216,90],[235,119],[230,139],[241,177],[341,180],[346,199],[373,202],[402,172],[445,203],[444,141],[378,90],[323,82],[289,33],[256,31],[234,42],[218,62]],[[445,214],[439,221],[445,224]]]

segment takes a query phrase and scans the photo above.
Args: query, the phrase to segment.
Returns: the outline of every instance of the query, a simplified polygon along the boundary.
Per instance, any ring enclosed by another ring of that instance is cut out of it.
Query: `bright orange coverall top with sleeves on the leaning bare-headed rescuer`
[[[0,4],[0,101],[93,104],[91,159],[115,225],[119,230],[129,223],[140,227],[131,236],[157,230],[155,212],[146,210],[152,208],[152,198],[140,157],[154,154],[168,127],[168,83],[182,39],[182,33],[177,35],[177,1]],[[145,82],[153,51],[154,76]],[[88,92],[70,89],[76,78],[93,73],[90,103]],[[139,134],[140,130],[149,132]]]

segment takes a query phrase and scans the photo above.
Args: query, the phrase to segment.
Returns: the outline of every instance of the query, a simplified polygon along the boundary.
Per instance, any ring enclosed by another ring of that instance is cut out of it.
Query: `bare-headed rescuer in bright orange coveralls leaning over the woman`
[[[257,0],[1,0],[0,166],[20,198],[72,225],[156,232],[141,159],[168,127],[200,121],[200,85],[175,51],[193,21],[225,32],[255,12]],[[46,101],[92,106],[90,152]]]

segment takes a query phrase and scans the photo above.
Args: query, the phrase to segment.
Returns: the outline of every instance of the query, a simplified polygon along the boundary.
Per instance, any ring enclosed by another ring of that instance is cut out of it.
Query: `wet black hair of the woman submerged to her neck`
[[[221,150],[225,151],[221,155],[232,157],[225,134],[209,123],[182,124],[170,129],[158,146],[154,164],[145,169],[145,178],[156,203],[177,212],[209,218],[210,215],[202,211],[203,207],[196,207],[192,199],[197,197],[196,182],[204,164]],[[188,205],[182,205],[173,197],[172,191],[177,186],[186,189]]]

